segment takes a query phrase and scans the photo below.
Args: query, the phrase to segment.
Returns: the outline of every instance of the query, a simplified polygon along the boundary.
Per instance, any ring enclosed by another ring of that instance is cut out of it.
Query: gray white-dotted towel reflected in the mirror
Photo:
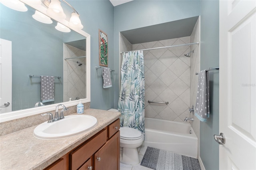
[[[54,76],[42,75],[40,79],[42,103],[54,101]]]

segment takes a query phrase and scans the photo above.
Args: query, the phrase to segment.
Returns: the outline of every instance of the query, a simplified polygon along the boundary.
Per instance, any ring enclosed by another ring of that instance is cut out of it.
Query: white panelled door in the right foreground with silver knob
[[[256,1],[220,0],[220,169],[256,170]]]

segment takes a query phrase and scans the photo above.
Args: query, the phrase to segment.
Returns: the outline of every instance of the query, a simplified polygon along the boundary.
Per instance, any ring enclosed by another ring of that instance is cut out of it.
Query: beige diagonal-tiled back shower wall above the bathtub
[[[130,43],[120,34],[122,49],[139,50],[190,43],[190,37],[174,38],[140,44]],[[190,117],[190,45],[143,51],[145,72],[145,117],[184,121]],[[120,57],[122,60],[122,57]],[[148,104],[150,101],[168,101],[165,104]]]

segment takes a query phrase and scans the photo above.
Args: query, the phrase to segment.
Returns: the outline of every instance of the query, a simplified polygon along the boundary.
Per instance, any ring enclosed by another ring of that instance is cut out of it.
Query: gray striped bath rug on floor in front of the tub
[[[153,170],[201,170],[198,159],[147,147],[140,163]]]

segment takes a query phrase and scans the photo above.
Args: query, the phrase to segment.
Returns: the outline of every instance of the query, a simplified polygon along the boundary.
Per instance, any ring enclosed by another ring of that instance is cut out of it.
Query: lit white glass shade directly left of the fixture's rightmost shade
[[[46,10],[47,14],[51,16],[56,16],[60,19],[65,19],[66,15],[63,12],[62,7],[60,6],[59,0],[51,0],[48,9]]]

